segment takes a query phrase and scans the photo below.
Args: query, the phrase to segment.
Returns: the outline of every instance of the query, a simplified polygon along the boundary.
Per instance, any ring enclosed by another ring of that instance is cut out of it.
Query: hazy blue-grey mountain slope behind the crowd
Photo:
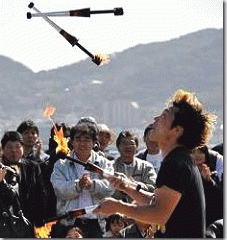
[[[91,115],[113,128],[144,129],[179,88],[196,92],[223,122],[223,29],[140,44],[113,53],[105,66],[87,59],[33,73],[0,56],[0,128],[26,118],[44,128],[42,112],[52,104],[55,118],[69,125]]]

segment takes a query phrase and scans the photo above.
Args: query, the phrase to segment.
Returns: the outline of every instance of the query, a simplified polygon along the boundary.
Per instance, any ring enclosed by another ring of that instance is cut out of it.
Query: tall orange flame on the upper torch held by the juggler
[[[64,137],[63,128],[61,127],[60,130],[57,130],[56,125],[54,124],[54,140],[57,142],[58,146],[56,148],[56,153],[67,156],[70,152],[68,147],[69,139]]]

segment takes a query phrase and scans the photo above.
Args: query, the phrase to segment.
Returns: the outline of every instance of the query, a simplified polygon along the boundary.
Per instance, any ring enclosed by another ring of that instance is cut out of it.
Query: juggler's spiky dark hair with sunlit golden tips
[[[178,90],[170,99],[169,104],[174,107],[175,118],[172,127],[181,126],[183,135],[178,143],[189,150],[208,143],[216,115],[205,112],[205,107],[198,101],[195,94]]]

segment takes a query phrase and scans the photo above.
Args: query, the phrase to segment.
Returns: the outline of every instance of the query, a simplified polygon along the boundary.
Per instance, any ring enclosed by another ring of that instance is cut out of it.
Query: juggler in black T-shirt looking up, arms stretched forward
[[[137,221],[161,225],[158,237],[204,238],[205,200],[202,180],[190,150],[206,144],[216,116],[204,112],[194,94],[178,90],[168,107],[154,118],[150,140],[157,141],[163,161],[154,193],[136,191],[126,178],[112,177],[112,185],[130,195],[139,205],[104,199],[95,213],[121,213]],[[164,228],[163,228],[164,226]]]

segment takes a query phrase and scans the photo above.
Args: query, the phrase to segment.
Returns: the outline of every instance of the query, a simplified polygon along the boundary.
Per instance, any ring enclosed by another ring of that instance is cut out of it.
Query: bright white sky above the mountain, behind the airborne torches
[[[223,28],[220,0],[37,0],[41,12],[122,7],[124,15],[50,17],[92,54],[121,52],[138,44],[162,42],[206,28]],[[27,19],[27,0],[1,0],[0,55],[24,64],[34,72],[55,69],[88,58],[72,47],[43,18]]]

